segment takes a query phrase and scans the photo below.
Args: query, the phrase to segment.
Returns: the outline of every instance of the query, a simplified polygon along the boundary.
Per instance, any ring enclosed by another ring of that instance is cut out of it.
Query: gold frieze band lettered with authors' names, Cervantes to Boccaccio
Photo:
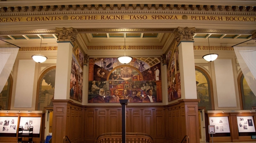
[[[10,22],[44,22],[57,20],[210,20],[256,22],[253,16],[207,16],[207,15],[65,15],[65,16],[1,16],[0,23]]]

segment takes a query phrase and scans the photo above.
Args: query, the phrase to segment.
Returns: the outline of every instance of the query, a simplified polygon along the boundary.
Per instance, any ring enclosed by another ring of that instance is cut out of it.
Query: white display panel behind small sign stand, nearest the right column
[[[210,125],[215,125],[215,133],[230,132],[228,117],[209,117]]]

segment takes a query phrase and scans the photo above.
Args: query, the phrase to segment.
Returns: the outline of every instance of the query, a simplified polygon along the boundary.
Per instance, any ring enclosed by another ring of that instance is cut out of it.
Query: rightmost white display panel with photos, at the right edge
[[[237,116],[238,132],[255,132],[253,116]]]

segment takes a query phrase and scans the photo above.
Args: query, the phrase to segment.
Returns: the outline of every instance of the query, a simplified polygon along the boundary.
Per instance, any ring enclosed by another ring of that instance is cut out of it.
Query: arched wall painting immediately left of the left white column
[[[44,110],[44,107],[53,107],[56,69],[48,70],[40,80],[37,110]]]

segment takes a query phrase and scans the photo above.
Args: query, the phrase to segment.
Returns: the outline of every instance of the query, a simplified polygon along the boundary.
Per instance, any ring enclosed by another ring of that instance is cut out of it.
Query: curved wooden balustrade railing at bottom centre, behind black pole
[[[96,143],[122,143],[122,133],[103,133]],[[126,143],[154,143],[145,133],[126,133]]]

